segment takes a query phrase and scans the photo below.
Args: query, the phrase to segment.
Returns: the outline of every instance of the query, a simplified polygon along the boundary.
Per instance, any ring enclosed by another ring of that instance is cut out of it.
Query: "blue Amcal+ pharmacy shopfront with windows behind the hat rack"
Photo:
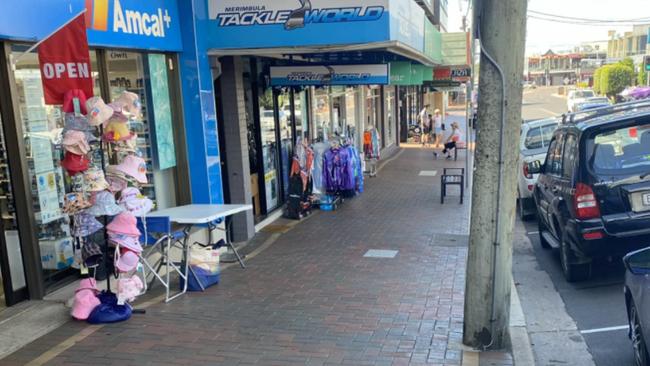
[[[38,9],[38,11],[33,11]],[[194,10],[176,0],[23,0],[0,13],[0,308],[38,299],[78,276],[69,182],[55,142],[60,108],[45,105],[38,56],[29,51],[85,10],[94,94],[138,94],[137,148],[147,161],[142,193],[156,206],[222,202],[216,113],[207,58],[196,49]],[[191,158],[190,158],[191,157]],[[48,189],[39,185],[49,172]],[[189,187],[189,189],[188,189]]]

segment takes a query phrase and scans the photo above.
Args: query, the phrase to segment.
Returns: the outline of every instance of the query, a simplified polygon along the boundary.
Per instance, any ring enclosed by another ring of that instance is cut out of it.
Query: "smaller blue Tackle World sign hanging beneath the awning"
[[[272,66],[271,85],[387,85],[388,64]]]

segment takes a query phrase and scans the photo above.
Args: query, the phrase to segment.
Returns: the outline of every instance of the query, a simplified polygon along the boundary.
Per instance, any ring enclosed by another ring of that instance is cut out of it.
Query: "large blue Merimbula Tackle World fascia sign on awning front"
[[[391,36],[388,0],[208,0],[208,7],[212,49],[358,44]]]

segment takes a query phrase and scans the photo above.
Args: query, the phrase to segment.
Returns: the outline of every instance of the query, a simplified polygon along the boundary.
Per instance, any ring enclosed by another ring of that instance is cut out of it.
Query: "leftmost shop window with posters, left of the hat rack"
[[[62,211],[64,196],[71,192],[70,182],[61,168],[63,150],[59,139],[64,115],[59,106],[45,105],[38,55],[23,54],[27,46],[13,45],[11,58],[17,60],[14,71],[20,107],[20,122],[25,139],[29,179],[38,244],[45,284],[66,275],[73,264],[73,239],[70,220]],[[97,56],[90,52],[92,75],[99,79]],[[99,95],[98,84],[95,93]],[[92,162],[101,165],[100,156]]]

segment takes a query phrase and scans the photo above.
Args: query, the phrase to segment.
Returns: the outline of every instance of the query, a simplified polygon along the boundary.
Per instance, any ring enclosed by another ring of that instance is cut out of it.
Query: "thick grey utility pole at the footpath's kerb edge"
[[[527,3],[482,0],[474,6],[483,51],[463,342],[477,348],[507,343]],[[490,59],[503,72],[505,91]]]

